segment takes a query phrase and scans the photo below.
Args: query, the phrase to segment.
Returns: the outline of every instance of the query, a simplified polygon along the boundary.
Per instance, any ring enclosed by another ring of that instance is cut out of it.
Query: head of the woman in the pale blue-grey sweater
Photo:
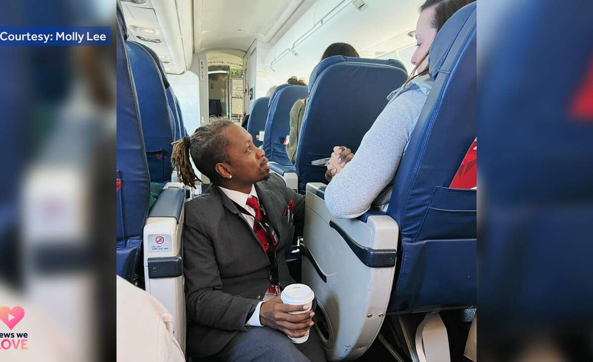
[[[416,23],[416,51],[412,55],[414,72],[417,75],[428,73],[428,52],[436,33],[457,10],[476,0],[426,0],[420,6],[420,16]],[[412,78],[409,79],[409,81]]]

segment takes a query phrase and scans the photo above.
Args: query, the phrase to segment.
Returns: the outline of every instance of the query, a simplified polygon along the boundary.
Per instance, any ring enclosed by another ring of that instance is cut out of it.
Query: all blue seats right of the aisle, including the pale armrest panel
[[[407,316],[476,305],[476,190],[449,187],[476,138],[475,3],[439,31],[429,69],[434,85],[393,179],[388,208],[358,219],[331,216],[324,201],[326,168],[311,161],[329,157],[336,145],[356,152],[387,94],[406,79],[397,64],[330,57],[314,69],[308,88],[278,87],[267,100],[265,120],[265,98],[254,102],[248,130],[260,136],[263,129],[270,167],[306,195],[302,282],[315,291],[315,328],[328,360],[360,357],[384,322],[401,327],[416,348],[433,343],[423,335],[446,341],[438,313],[420,326],[407,323],[414,320]],[[292,166],[282,140],[290,107],[306,97]]]

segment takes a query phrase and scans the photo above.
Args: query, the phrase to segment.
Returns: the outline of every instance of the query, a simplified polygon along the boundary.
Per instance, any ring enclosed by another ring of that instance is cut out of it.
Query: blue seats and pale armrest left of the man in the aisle
[[[186,130],[158,56],[126,40],[125,32],[118,2],[117,274],[144,287],[167,308],[184,349],[181,234],[187,193],[182,184],[170,182],[170,156],[171,142]],[[155,201],[151,191],[158,194]]]

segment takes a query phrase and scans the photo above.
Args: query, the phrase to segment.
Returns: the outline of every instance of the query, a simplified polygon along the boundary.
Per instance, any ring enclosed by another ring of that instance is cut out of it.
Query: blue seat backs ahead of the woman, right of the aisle
[[[247,124],[272,171],[303,194],[307,182],[325,182],[326,168],[314,161],[329,158],[336,145],[356,152],[387,105],[387,95],[406,81],[407,73],[399,60],[331,56],[313,69],[309,79],[308,86],[283,84],[271,97],[257,99]],[[303,98],[308,100],[292,165],[285,142],[289,113],[295,101]]]

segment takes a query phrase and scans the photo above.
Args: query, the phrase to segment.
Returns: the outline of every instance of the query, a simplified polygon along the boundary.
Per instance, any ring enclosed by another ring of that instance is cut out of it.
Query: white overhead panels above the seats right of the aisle
[[[416,43],[413,31],[422,2],[364,0],[357,8],[351,1],[317,1],[267,53],[266,73],[277,81],[291,75],[308,79],[326,47],[336,42],[351,44],[361,57],[392,53],[398,59],[395,50]],[[400,60],[409,68],[409,58]]]

